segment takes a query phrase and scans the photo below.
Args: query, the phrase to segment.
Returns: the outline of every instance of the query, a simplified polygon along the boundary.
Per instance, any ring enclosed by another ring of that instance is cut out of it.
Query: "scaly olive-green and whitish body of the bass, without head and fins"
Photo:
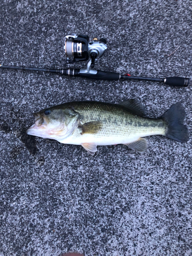
[[[103,143],[108,143],[108,145],[128,143],[132,140],[132,135],[134,135],[134,138],[137,135],[139,137],[148,136],[149,133],[151,133],[150,135],[164,135],[166,131],[166,124],[163,120],[136,116],[130,113],[125,107],[118,104],[71,102],[70,106],[80,114],[82,124],[91,121],[101,121],[103,123],[101,130],[91,136],[84,136],[81,143],[86,142],[84,139],[90,140],[90,137],[94,138],[94,143],[97,142],[97,145],[103,145]],[[65,109],[66,104],[60,105],[60,108]],[[79,137],[79,133],[75,133],[72,137],[73,143],[75,143],[74,140]],[[106,140],[98,141],[99,138],[103,140],[105,137],[107,137]],[[112,140],[109,138],[112,138]],[[95,139],[97,141],[95,141]],[[119,139],[121,139],[121,141],[119,141]]]

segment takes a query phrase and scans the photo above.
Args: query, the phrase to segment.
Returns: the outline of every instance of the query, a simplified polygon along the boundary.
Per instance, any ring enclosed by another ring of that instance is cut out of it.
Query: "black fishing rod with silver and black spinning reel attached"
[[[97,61],[107,49],[106,40],[104,38],[94,38],[89,42],[87,35],[67,35],[65,41],[65,53],[67,55],[67,63],[76,63],[79,61],[88,62],[87,69],[39,69],[39,68],[28,68],[28,67],[17,67],[17,66],[5,66],[0,65],[1,69],[16,69],[16,70],[29,70],[29,71],[40,71],[58,73],[69,77],[84,77],[91,79],[100,80],[140,80],[140,81],[154,81],[169,84],[169,86],[176,87],[187,87],[189,84],[189,78],[184,77],[165,77],[165,78],[151,78],[151,77],[139,77],[131,76],[129,74],[121,75],[115,72],[93,70],[95,67],[95,61]]]

